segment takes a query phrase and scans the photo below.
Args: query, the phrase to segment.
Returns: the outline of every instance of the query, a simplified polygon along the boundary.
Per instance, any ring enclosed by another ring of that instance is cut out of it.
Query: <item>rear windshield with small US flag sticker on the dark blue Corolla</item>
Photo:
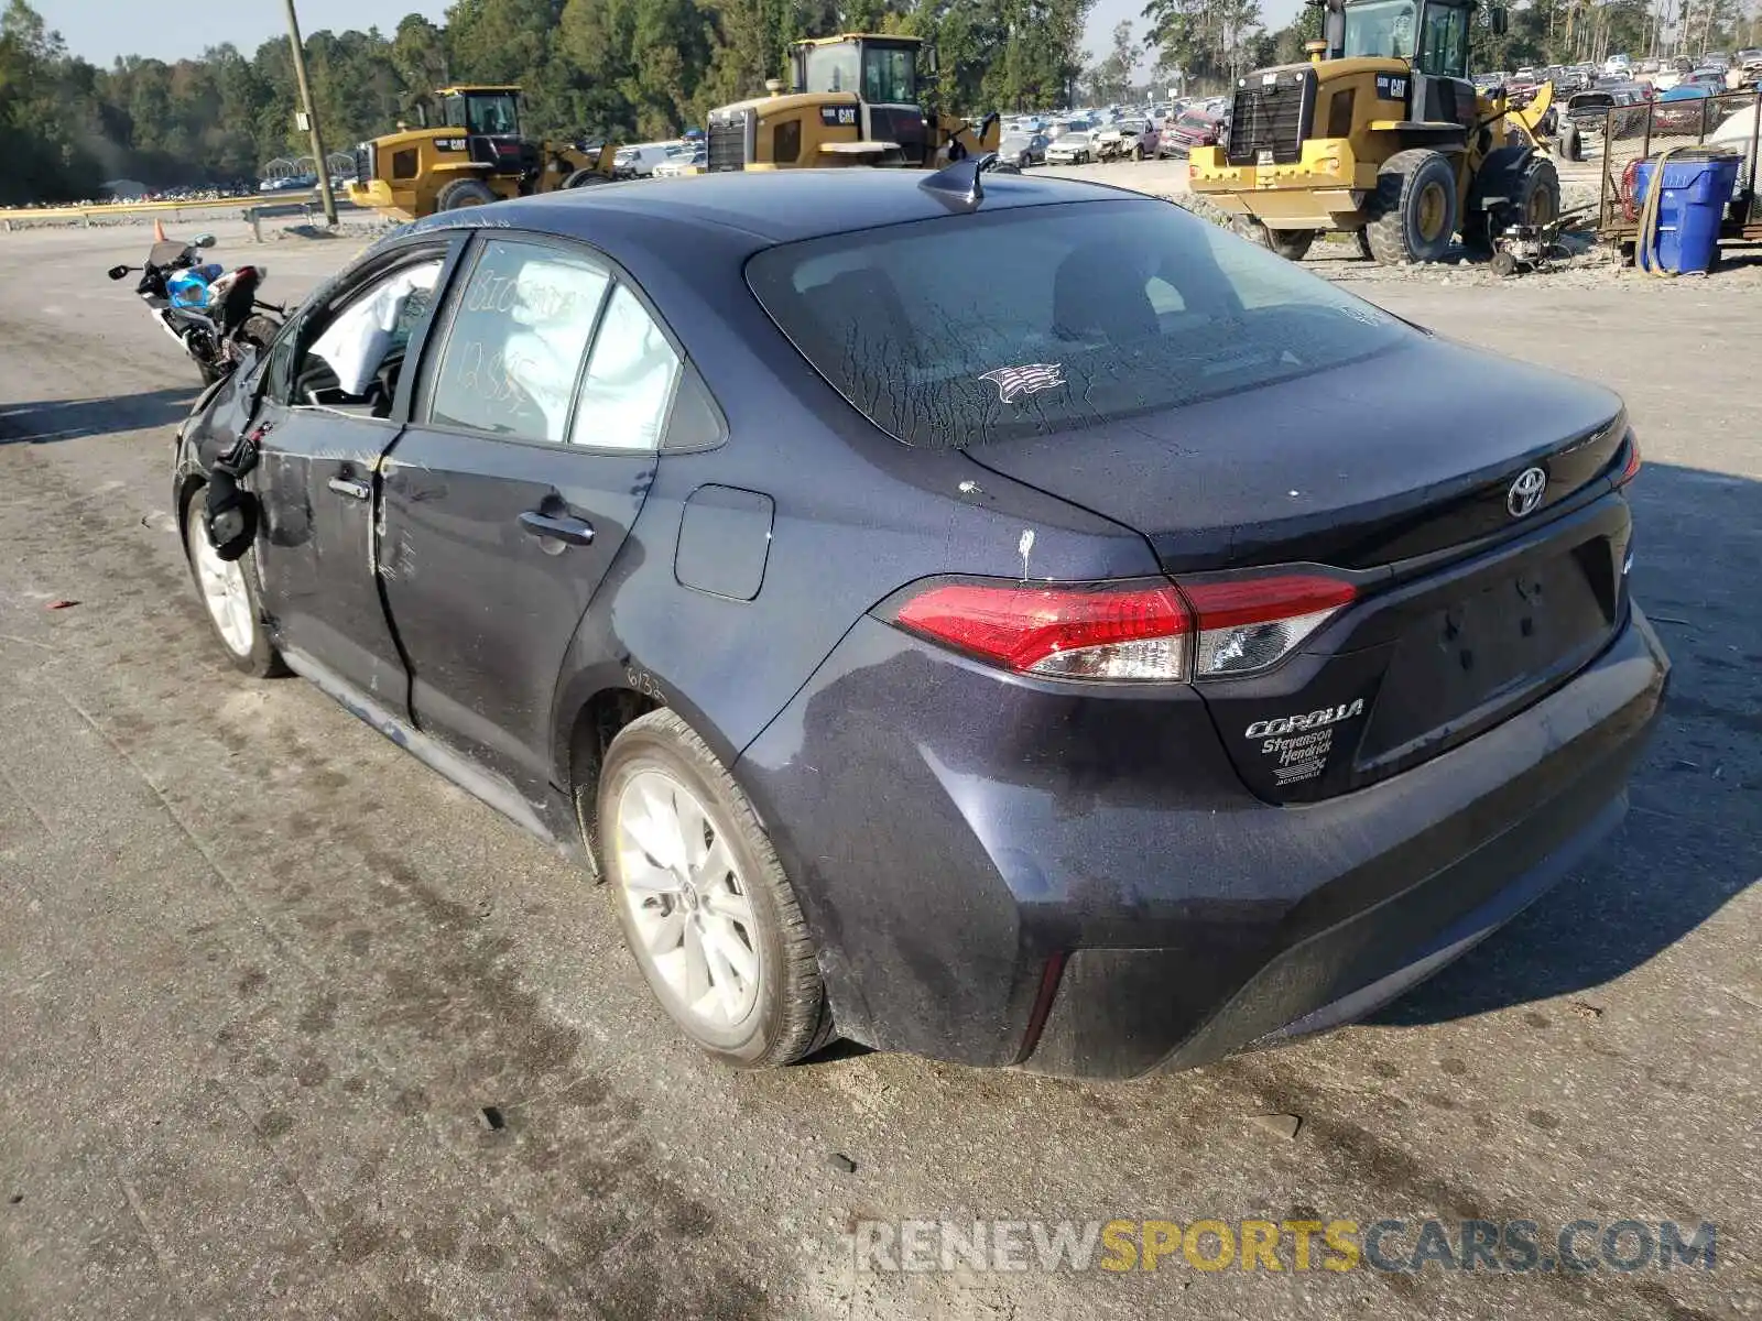
[[[1413,335],[1172,203],[951,215],[788,243],[747,282],[911,446],[1070,432],[1255,389]]]

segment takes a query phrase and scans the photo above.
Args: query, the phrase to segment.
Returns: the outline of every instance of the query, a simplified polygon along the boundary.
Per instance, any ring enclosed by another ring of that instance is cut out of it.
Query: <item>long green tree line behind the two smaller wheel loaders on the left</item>
[[[305,33],[326,146],[391,132],[448,83],[518,83],[532,136],[638,141],[788,77],[807,35],[899,32],[936,42],[927,97],[964,113],[1066,100],[1094,0],[455,0],[389,33]],[[28,0],[0,14],[0,204],[95,197],[102,181],[155,188],[255,180],[308,153],[285,37],[255,51],[120,58],[67,51]]]

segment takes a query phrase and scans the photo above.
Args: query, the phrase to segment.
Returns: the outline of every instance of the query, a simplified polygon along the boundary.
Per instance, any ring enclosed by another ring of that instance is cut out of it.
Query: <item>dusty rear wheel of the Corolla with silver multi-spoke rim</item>
[[[700,1050],[761,1069],[830,1039],[814,941],[770,837],[675,712],[650,712],[611,740],[597,823],[626,944]]]

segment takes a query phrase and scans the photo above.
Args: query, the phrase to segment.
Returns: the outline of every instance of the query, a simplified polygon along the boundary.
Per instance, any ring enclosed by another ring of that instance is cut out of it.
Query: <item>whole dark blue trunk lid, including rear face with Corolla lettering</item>
[[[1295,653],[1198,682],[1244,784],[1300,803],[1461,745],[1607,646],[1626,609],[1625,435],[1603,389],[1425,340],[969,454],[1136,528],[1177,579],[1344,571],[1359,599]]]

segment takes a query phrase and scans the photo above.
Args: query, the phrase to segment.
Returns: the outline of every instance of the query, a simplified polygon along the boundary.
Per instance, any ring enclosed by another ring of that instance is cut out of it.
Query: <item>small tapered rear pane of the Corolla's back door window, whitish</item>
[[[606,305],[581,382],[571,444],[655,449],[680,361],[641,301],[622,284]]]

